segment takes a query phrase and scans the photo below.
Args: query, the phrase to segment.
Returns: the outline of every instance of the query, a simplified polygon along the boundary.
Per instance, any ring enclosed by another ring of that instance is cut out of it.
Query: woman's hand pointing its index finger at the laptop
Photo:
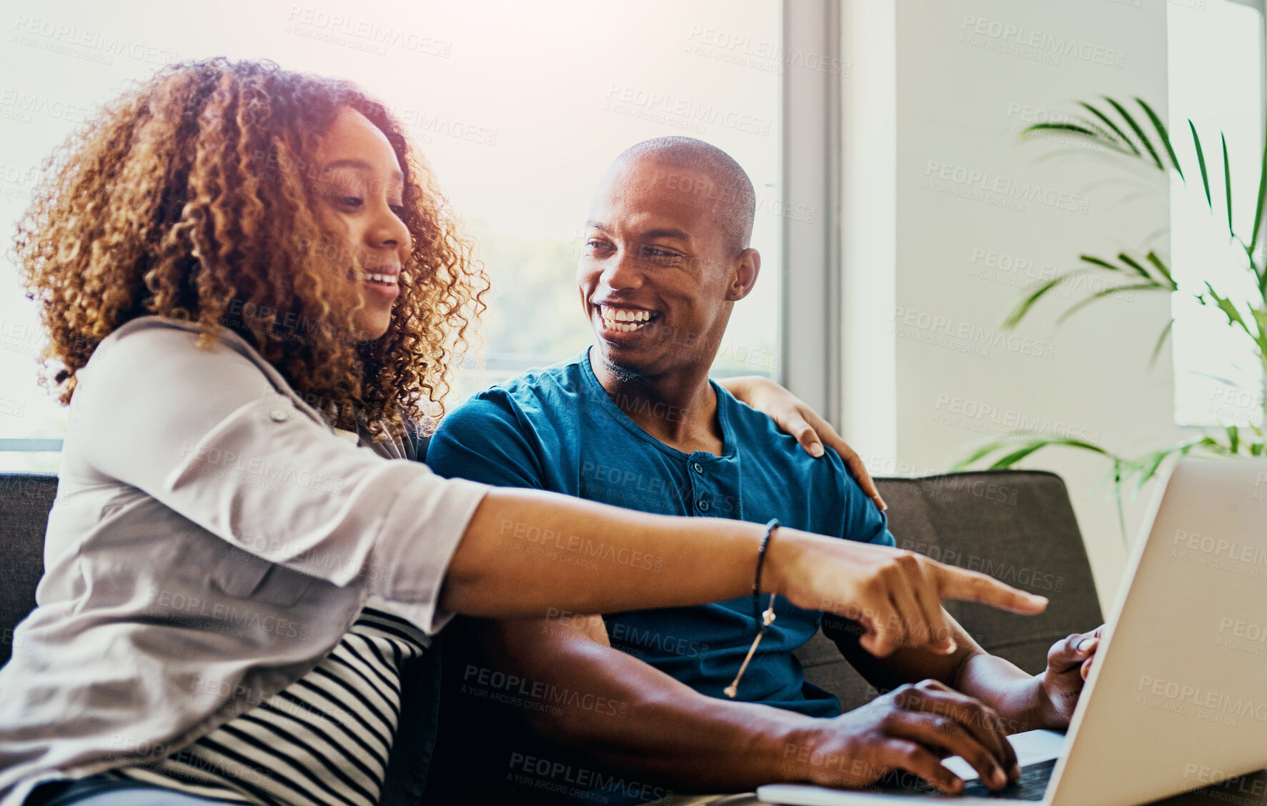
[[[1034,615],[1047,598],[922,554],[780,528],[769,547],[770,585],[793,604],[862,625],[859,644],[877,658],[902,646],[939,654],[958,648],[941,599],[982,602]]]

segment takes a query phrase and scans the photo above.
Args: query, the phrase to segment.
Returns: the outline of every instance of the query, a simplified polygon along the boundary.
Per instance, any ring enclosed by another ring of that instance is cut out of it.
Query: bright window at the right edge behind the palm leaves
[[[1232,166],[1232,209],[1238,232],[1252,229],[1263,150],[1262,0],[1183,0],[1168,4],[1171,132],[1180,163],[1196,165],[1187,119],[1201,136],[1215,195],[1211,215],[1200,174],[1185,186],[1172,177],[1171,255],[1181,286],[1209,280],[1220,294],[1257,294],[1244,250],[1230,245],[1223,204],[1219,132]],[[1248,236],[1247,236],[1248,240]],[[1262,370],[1249,341],[1224,314],[1190,294],[1176,294],[1175,402],[1182,426],[1262,426]]]

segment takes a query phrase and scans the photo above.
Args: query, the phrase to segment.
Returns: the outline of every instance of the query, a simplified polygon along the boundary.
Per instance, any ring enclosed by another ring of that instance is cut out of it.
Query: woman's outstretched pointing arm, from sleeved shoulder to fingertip
[[[428,630],[441,624],[437,607],[544,616],[751,591],[761,526],[441,479],[346,442],[276,394],[248,354],[195,340],[136,321],[103,342],[75,393],[63,469],[144,493],[269,563],[364,584]],[[763,582],[801,607],[863,621],[875,641],[864,646],[884,654],[936,632],[919,597],[1045,606],[910,551],[796,530],[775,535]]]

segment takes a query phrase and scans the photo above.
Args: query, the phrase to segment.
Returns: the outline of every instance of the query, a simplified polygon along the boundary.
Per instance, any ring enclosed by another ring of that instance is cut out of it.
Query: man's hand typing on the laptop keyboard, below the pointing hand
[[[938,681],[902,686],[830,720],[812,720],[784,745],[784,772],[820,786],[864,787],[901,771],[941,792],[963,779],[941,759],[963,757],[991,790],[1020,777],[1016,753],[992,708]]]

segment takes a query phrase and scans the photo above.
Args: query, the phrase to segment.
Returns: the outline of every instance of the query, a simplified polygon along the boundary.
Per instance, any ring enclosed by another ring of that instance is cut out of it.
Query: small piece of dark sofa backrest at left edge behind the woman
[[[0,667],[13,654],[13,627],[35,606],[44,574],[44,526],[57,496],[57,477],[0,474]]]

